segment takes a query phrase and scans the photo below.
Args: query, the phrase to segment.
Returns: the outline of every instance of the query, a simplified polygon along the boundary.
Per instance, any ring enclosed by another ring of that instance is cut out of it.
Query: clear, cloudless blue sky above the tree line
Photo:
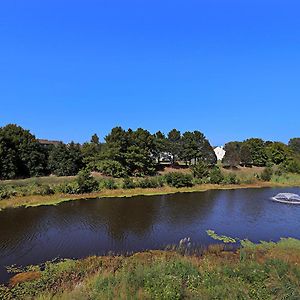
[[[82,142],[199,129],[300,135],[299,0],[0,3],[0,126]]]

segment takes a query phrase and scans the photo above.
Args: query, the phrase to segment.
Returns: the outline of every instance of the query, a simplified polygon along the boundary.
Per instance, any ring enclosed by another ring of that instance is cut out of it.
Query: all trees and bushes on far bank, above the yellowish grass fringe
[[[271,181],[299,185],[299,140],[291,139],[288,145],[253,138],[242,143],[230,142],[225,146],[222,166],[216,164],[213,148],[199,131],[181,134],[173,129],[165,136],[160,131],[150,134],[141,128],[126,131],[116,127],[105,137],[104,144],[96,134],[83,145],[41,144],[29,131],[7,125],[0,128],[0,179],[49,174],[77,176],[61,181],[50,176],[0,181],[0,200],[106,189],[186,188],[199,184],[259,185]],[[166,161],[173,168],[160,175]],[[240,165],[249,172],[239,172]],[[256,166],[265,169],[251,172]],[[100,172],[102,177],[94,178],[92,171]]]

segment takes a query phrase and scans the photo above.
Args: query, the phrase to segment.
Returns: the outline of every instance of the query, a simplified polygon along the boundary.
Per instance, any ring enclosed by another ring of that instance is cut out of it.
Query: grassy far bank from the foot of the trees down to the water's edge
[[[245,168],[244,168],[245,169]],[[300,186],[300,174],[275,174],[270,182],[263,182],[256,173],[261,168],[249,170],[223,170],[223,180],[219,184],[211,184],[206,180],[192,178],[190,174],[168,173],[164,176],[149,178],[115,179],[94,174],[98,184],[92,193],[80,195],[77,177],[39,177],[20,180],[0,181],[0,210],[7,207],[37,206],[57,204],[66,200],[96,197],[123,197],[133,195],[168,194],[177,191],[191,192],[207,189],[226,189],[232,185],[242,187],[261,186]],[[248,168],[249,169],[249,168]],[[194,186],[194,187],[193,187]],[[178,190],[177,190],[178,189]]]

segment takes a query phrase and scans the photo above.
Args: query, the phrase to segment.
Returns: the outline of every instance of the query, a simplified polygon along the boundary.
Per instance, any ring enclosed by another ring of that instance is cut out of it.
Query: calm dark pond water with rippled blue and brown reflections
[[[0,212],[0,282],[5,266],[161,249],[181,238],[213,243],[206,230],[254,242],[300,238],[300,205],[269,198],[300,188],[220,190],[80,200]]]

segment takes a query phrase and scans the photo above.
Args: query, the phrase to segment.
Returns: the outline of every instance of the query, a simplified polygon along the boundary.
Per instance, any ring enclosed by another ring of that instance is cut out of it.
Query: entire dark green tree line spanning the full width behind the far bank
[[[288,145],[251,138],[225,145],[223,165],[227,167],[282,165],[287,171],[300,172],[300,138]],[[166,135],[161,131],[124,130],[115,127],[101,143],[94,134],[83,145],[71,142],[41,144],[28,130],[9,124],[0,128],[0,179],[32,176],[76,175],[81,169],[98,171],[113,177],[151,176],[165,162],[184,163],[196,177],[217,163],[207,138],[200,131]],[[214,170],[216,178],[218,170]],[[202,176],[201,175],[201,176]]]

